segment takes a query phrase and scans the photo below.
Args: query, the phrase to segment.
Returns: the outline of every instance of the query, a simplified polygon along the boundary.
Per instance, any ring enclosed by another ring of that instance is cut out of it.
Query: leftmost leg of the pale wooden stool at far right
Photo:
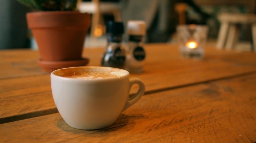
[[[227,37],[227,33],[228,33],[228,27],[229,27],[229,23],[227,23],[227,22],[221,23],[218,40],[217,40],[217,44],[216,44],[216,47],[218,49],[224,48],[224,44],[226,42],[226,37]]]

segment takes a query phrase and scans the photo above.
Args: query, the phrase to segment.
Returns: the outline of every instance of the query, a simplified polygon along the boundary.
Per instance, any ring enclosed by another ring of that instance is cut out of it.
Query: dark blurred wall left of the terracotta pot
[[[27,12],[29,9],[15,0],[0,1],[0,49],[29,48]]]

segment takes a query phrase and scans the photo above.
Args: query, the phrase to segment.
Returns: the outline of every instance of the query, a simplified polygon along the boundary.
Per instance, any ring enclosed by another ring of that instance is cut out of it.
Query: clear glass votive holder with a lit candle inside
[[[180,53],[187,58],[203,58],[207,34],[208,27],[205,25],[178,25],[177,36]]]

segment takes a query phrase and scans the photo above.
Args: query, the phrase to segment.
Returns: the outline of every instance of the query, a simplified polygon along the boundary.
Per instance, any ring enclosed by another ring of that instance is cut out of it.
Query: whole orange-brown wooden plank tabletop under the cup
[[[68,126],[37,51],[0,51],[0,142],[255,142],[256,53],[207,47],[203,60],[172,44],[147,44],[145,95],[110,127]],[[86,48],[100,66],[104,48]],[[136,90],[133,88],[132,92]]]

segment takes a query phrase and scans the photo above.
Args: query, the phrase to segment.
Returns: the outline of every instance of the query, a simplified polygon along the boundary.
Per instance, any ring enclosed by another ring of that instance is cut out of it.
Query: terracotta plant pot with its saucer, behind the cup
[[[91,17],[87,13],[70,11],[31,12],[28,27],[40,53],[39,65],[46,71],[86,66],[81,57]]]

